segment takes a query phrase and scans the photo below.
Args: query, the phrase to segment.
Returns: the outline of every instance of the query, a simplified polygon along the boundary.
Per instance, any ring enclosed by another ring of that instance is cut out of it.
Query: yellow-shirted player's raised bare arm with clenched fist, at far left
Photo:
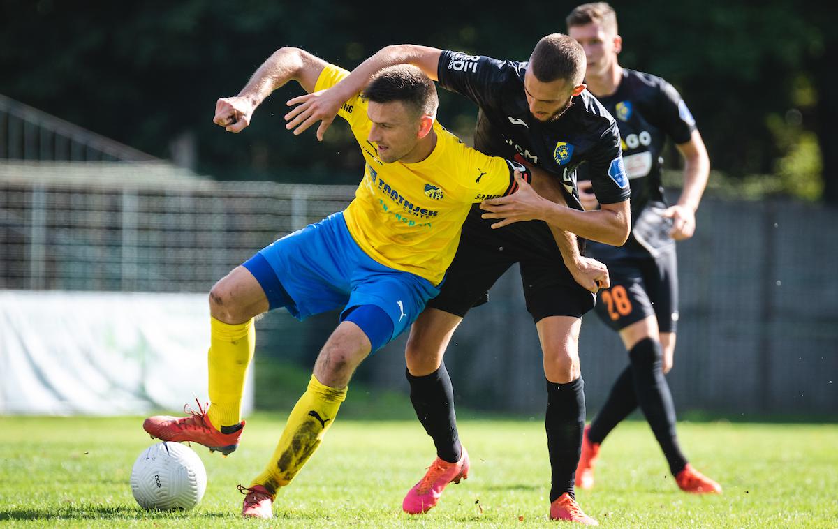
[[[307,92],[314,90],[318,77],[326,66],[323,59],[303,49],[277,49],[251,76],[235,97],[223,97],[215,103],[216,125],[229,132],[241,132],[251,123],[256,107],[288,81],[295,80]]]

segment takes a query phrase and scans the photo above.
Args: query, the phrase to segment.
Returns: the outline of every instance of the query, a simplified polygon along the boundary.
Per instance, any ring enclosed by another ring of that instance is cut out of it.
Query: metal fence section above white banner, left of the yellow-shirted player
[[[208,291],[353,193],[215,182],[157,163],[0,164],[0,288]]]

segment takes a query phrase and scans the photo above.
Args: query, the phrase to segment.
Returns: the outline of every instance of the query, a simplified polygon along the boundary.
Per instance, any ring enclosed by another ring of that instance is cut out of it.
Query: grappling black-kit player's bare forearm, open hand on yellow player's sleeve
[[[492,228],[500,228],[525,220],[543,220],[551,226],[596,240],[621,246],[629,238],[631,213],[629,201],[603,204],[596,211],[577,211],[541,197],[521,177],[515,176],[518,191],[506,197],[492,198],[480,203],[483,218],[498,218]]]

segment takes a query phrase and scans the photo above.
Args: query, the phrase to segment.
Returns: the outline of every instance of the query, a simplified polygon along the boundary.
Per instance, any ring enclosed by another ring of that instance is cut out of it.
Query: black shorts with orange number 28
[[[675,247],[654,258],[634,240],[622,248],[589,244],[588,257],[608,266],[611,287],[597,295],[597,315],[620,331],[649,316],[660,332],[675,332],[678,322],[678,265]]]

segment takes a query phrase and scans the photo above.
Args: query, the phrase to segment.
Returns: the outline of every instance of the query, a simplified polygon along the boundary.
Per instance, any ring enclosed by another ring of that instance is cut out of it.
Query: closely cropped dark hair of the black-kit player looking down
[[[530,55],[530,71],[542,83],[562,79],[577,86],[585,77],[585,50],[567,35],[552,33],[535,44]]]

